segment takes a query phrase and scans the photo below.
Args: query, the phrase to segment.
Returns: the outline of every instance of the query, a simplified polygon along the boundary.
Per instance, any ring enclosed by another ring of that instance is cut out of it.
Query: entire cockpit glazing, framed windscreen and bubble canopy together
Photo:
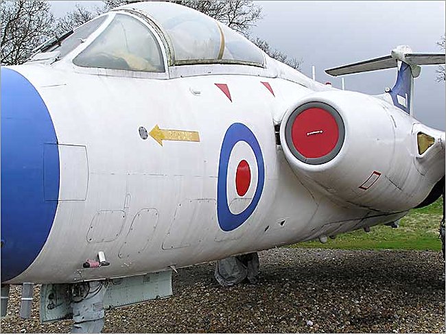
[[[63,58],[89,36],[95,38],[73,58],[80,67],[162,73],[165,64],[264,64],[262,51],[244,36],[175,3],[146,1],[115,8],[75,29],[50,51]]]

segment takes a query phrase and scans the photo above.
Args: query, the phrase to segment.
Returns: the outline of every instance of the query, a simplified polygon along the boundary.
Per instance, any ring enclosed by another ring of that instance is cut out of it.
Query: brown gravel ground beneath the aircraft
[[[277,248],[259,253],[260,282],[220,287],[213,264],[174,274],[174,296],[106,311],[106,333],[445,333],[440,252]],[[11,289],[2,333],[68,333],[30,320]]]

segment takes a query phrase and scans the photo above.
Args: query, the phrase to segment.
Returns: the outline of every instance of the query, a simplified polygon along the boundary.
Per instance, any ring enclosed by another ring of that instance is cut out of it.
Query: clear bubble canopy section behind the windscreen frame
[[[169,43],[174,64],[263,65],[263,53],[253,43],[191,8],[156,1],[124,5],[118,9],[138,10],[148,15]]]

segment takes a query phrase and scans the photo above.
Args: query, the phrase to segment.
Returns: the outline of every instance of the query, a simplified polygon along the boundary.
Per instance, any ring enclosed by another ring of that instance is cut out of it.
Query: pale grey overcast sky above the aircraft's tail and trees
[[[102,1],[50,1],[56,16],[75,3],[94,8]],[[387,56],[397,45],[415,53],[441,53],[436,45],[445,33],[445,1],[256,1],[263,19],[252,34],[290,57],[302,58],[301,71],[340,88],[340,78],[325,69]],[[414,116],[427,126],[445,130],[445,84],[436,82],[436,66],[423,67],[415,79]],[[396,69],[345,77],[345,88],[384,93],[395,84]]]

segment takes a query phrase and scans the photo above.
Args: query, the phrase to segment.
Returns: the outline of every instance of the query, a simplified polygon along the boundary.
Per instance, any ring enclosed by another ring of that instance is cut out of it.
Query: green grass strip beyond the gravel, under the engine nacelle
[[[399,222],[398,228],[378,225],[371,231],[364,230],[338,235],[336,239],[328,239],[327,243],[306,241],[297,243],[295,248],[331,248],[331,249],[362,249],[362,250],[441,250],[441,240],[438,239],[438,228],[443,217],[443,199],[424,208],[412,209]]]

